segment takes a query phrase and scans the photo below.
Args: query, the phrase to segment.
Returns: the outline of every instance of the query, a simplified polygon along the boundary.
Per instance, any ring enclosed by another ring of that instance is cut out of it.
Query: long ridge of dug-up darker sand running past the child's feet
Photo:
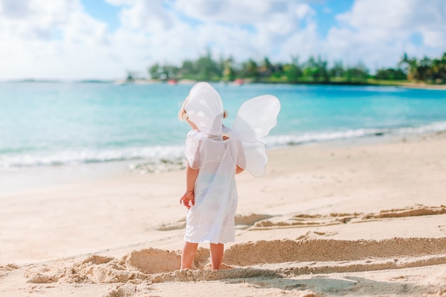
[[[143,249],[120,259],[90,256],[63,271],[29,271],[31,283],[160,283],[296,276],[400,269],[446,264],[446,238],[385,240],[274,240],[234,244],[224,253],[227,269],[209,271],[209,250],[200,248],[195,269],[180,268],[180,251]]]

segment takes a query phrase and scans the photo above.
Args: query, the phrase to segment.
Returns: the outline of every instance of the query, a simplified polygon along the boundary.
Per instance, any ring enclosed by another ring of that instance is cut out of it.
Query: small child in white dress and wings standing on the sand
[[[221,268],[224,244],[235,239],[235,174],[264,174],[267,157],[258,139],[276,125],[279,108],[271,95],[251,99],[230,130],[222,123],[227,113],[217,90],[209,83],[190,90],[179,112],[192,127],[185,145],[187,189],[180,199],[188,209],[181,269],[191,268],[200,242],[210,244],[212,270]]]

